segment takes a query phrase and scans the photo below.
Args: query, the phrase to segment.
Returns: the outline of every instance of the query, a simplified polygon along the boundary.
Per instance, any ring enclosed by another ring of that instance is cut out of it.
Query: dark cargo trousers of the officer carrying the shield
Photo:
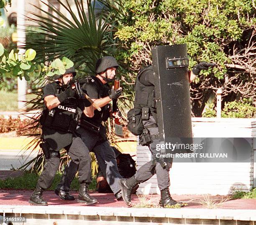
[[[154,117],[151,115],[149,120],[143,120],[144,127],[156,124]],[[150,135],[158,135],[158,128],[148,128]],[[160,190],[169,188],[170,186],[170,178],[169,178],[169,170],[171,167],[171,163],[167,163],[166,167],[163,168],[162,165],[157,162],[156,153],[156,145],[159,144],[159,139],[153,139],[153,143],[150,144],[149,150],[152,155],[152,160],[148,163],[142,165],[134,175],[135,179],[140,183],[145,182],[150,179],[153,175],[156,174],[157,184]]]

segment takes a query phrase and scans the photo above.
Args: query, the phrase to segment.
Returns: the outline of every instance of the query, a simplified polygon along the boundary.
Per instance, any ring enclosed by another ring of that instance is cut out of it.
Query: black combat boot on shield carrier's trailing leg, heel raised
[[[130,206],[131,205],[131,194],[133,191],[133,187],[138,185],[139,182],[132,176],[129,179],[120,179],[119,185],[122,191],[123,200],[125,204]]]

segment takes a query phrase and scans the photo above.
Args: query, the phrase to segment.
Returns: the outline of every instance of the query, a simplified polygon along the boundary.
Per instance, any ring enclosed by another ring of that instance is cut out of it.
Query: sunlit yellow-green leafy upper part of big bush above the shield
[[[129,0],[125,2],[128,18],[121,21],[116,37],[121,41],[159,44],[186,43],[191,67],[200,60],[218,62],[215,76],[222,78],[228,55],[228,42],[241,40],[243,30],[253,25],[250,0]],[[239,13],[239,15],[238,15]],[[225,42],[224,42],[225,40]],[[134,49],[130,57],[136,54]]]

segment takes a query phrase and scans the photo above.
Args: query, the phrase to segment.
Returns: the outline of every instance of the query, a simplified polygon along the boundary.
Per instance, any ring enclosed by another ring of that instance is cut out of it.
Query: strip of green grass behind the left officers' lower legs
[[[8,178],[6,180],[0,180],[0,189],[8,190],[34,190],[36,188],[39,175],[36,173],[26,172],[23,176],[17,178]],[[56,173],[53,184],[49,190],[55,190],[56,186],[61,180],[61,173]],[[71,183],[71,190],[79,190],[78,177],[76,176]],[[89,185],[89,190],[96,190],[96,179],[92,179],[92,183]]]

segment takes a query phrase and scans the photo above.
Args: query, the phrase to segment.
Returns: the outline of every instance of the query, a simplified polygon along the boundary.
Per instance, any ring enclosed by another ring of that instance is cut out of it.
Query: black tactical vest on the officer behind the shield
[[[155,100],[155,87],[154,85],[143,85],[140,82],[140,77],[146,70],[152,70],[152,66],[149,65],[138,72],[136,83],[135,83],[135,100],[134,108],[148,107],[151,113],[156,113],[156,100]]]

